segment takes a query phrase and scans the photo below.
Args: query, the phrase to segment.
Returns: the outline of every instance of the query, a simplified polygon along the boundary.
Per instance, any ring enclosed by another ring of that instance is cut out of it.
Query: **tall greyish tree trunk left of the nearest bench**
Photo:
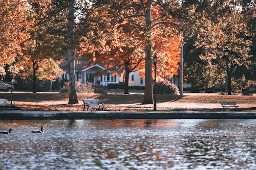
[[[75,77],[75,56],[74,56],[74,0],[69,4],[68,20],[69,20],[69,32],[68,32],[68,62],[69,62],[69,104],[78,103],[76,95],[76,77]]]

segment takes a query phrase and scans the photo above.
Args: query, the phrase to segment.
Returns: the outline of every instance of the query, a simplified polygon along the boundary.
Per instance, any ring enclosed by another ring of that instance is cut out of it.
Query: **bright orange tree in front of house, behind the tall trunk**
[[[112,5],[115,4],[114,1],[112,3]],[[135,3],[139,5],[139,2]],[[138,71],[140,76],[145,78],[146,62],[148,63],[145,49],[149,39],[143,8],[137,8],[137,11],[127,10],[128,15],[125,14],[124,9],[118,13],[121,19],[117,19],[114,17],[117,15],[116,11],[106,8],[109,4],[104,7],[93,9],[94,14],[90,17],[94,18],[92,20],[96,20],[96,23],[102,24],[97,26],[91,23],[91,30],[96,30],[96,32],[90,31],[87,37],[82,38],[79,54],[90,60],[91,64],[103,62],[106,68],[117,70],[118,75],[124,72],[124,84],[127,88],[130,72]],[[181,38],[174,27],[167,27],[166,23],[172,20],[160,23],[162,19],[158,19],[159,8],[153,6],[151,10],[152,20],[159,22],[150,28],[152,51],[159,58],[157,77],[158,80],[164,77],[172,78],[173,75],[178,74],[177,63],[180,61]],[[138,12],[138,14],[134,15],[134,18],[129,17],[133,12]],[[150,68],[154,69],[152,62]],[[151,75],[151,78],[153,76]],[[127,89],[124,93],[127,93]]]

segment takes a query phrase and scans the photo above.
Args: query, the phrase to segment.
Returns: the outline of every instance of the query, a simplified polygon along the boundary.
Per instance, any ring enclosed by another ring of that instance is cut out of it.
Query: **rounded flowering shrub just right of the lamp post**
[[[178,92],[177,86],[167,80],[156,83],[156,94],[177,94]]]

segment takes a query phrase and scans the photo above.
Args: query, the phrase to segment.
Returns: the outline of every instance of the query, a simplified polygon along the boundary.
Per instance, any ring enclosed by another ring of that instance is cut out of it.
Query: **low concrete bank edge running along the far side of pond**
[[[26,111],[2,110],[0,120],[31,119],[255,119],[251,111]]]

